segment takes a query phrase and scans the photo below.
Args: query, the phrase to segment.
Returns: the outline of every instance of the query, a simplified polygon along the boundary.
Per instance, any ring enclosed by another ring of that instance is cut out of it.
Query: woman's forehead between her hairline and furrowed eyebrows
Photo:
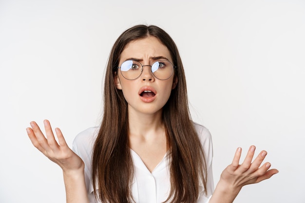
[[[149,36],[129,42],[120,55],[120,62],[129,58],[146,60],[158,56],[164,56],[172,61],[169,49],[158,38]]]

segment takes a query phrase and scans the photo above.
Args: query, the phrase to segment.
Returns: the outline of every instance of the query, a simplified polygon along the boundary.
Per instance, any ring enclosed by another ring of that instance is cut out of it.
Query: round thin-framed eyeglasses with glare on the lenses
[[[159,60],[154,62],[152,65],[144,66],[150,66],[152,68],[153,76],[159,80],[169,79],[172,76],[174,68],[176,68],[168,60]],[[122,63],[121,67],[117,68],[121,69],[123,77],[128,80],[134,80],[142,74],[144,66],[138,61],[127,60]]]

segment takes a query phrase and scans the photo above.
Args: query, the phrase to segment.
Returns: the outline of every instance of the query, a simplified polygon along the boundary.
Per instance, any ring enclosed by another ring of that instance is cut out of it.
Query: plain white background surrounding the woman
[[[25,129],[49,119],[71,146],[98,125],[110,49],[139,23],[180,50],[215,184],[237,147],[256,145],[280,173],[235,203],[305,203],[303,0],[0,0],[0,202],[65,202],[61,169]]]

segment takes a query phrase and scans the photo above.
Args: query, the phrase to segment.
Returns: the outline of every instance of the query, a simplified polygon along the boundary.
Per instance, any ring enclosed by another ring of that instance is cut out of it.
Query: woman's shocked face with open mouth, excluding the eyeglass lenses
[[[162,59],[172,62],[170,51],[156,37],[150,36],[127,44],[120,55],[119,66],[129,59],[137,60],[143,65],[142,74],[134,80],[128,80],[118,69],[114,76],[116,88],[122,90],[128,103],[128,111],[145,114],[162,112],[177,79],[172,74],[167,80],[159,80],[152,74],[151,66],[146,65]]]

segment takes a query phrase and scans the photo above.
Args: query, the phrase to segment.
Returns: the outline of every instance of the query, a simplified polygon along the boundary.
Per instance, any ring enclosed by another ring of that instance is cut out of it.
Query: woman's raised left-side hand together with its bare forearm
[[[55,129],[58,138],[57,143],[50,122],[44,120],[43,124],[46,137],[34,121],[31,122],[32,128],[26,129],[31,142],[46,157],[62,168],[67,203],[89,203],[85,184],[84,162],[68,147],[60,129]]]

